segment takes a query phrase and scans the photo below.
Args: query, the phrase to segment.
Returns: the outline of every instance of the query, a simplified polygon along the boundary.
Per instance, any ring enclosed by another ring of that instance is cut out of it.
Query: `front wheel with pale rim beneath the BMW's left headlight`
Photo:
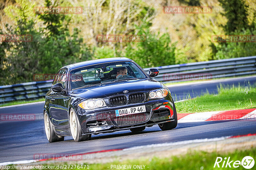
[[[92,136],[91,134],[82,135],[81,125],[79,124],[78,117],[75,113],[75,110],[72,108],[70,109],[70,114],[69,114],[69,125],[70,125],[71,135],[76,142],[89,140],[91,138]]]

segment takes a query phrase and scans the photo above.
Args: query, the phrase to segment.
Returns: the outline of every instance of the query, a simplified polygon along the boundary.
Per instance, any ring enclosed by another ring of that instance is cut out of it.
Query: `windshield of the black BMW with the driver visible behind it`
[[[133,62],[118,61],[86,66],[69,73],[71,90],[113,81],[148,78]]]

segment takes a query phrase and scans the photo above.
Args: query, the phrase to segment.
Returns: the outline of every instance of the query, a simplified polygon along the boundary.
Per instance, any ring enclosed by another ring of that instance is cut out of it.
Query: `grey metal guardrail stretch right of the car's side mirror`
[[[153,68],[153,67],[152,67]],[[154,67],[164,83],[256,74],[256,56]],[[150,68],[144,68],[148,71]]]

